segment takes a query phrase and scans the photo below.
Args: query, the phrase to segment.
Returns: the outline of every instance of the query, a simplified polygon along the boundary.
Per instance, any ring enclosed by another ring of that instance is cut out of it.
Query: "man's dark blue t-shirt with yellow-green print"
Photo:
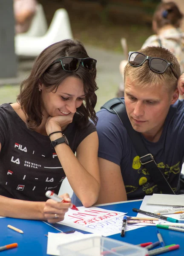
[[[158,193],[158,186],[153,182],[149,171],[141,165],[126,128],[118,116],[106,109],[98,111],[97,116],[98,157],[121,167],[128,200]],[[158,142],[153,143],[142,135],[141,137],[148,151],[154,156],[161,172],[177,194],[184,157],[184,100],[178,100],[170,106]],[[78,204],[75,195],[72,200]]]

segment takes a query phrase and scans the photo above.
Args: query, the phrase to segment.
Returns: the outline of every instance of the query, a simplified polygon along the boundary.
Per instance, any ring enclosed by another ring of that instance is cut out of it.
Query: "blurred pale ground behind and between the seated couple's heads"
[[[108,99],[115,97],[116,90],[121,81],[119,73],[119,63],[123,59],[123,53],[106,51],[91,46],[86,46],[86,50],[92,58],[97,59],[97,91],[99,110]],[[29,75],[33,65],[33,60],[19,60],[18,76],[14,79],[0,79],[0,104],[4,102],[14,102],[19,91],[21,81]],[[4,86],[6,85],[6,86]]]

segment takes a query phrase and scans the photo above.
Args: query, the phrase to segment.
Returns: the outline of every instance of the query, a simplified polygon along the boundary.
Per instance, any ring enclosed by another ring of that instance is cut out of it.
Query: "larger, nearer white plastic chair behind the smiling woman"
[[[68,38],[73,38],[68,13],[65,9],[58,9],[45,35],[20,34],[15,37],[15,53],[18,56],[37,57],[49,45]]]

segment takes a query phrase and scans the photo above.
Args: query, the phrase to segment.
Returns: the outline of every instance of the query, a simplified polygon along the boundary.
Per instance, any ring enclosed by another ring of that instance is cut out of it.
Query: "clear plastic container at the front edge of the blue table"
[[[145,248],[100,236],[58,245],[58,250],[60,256],[145,256],[148,252]]]

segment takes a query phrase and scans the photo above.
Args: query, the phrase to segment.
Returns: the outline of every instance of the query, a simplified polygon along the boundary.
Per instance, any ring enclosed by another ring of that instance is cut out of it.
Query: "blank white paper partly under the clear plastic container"
[[[48,241],[47,241],[47,254],[59,256],[60,251],[58,250],[58,245],[72,243],[75,241],[79,241],[81,239],[86,239],[94,236],[100,236],[95,234],[83,234],[78,231],[72,234],[65,234],[65,233],[48,233]],[[101,236],[100,236],[101,237]],[[99,248],[95,248],[95,254],[100,256],[100,244]],[[98,250],[98,251],[97,251]]]

